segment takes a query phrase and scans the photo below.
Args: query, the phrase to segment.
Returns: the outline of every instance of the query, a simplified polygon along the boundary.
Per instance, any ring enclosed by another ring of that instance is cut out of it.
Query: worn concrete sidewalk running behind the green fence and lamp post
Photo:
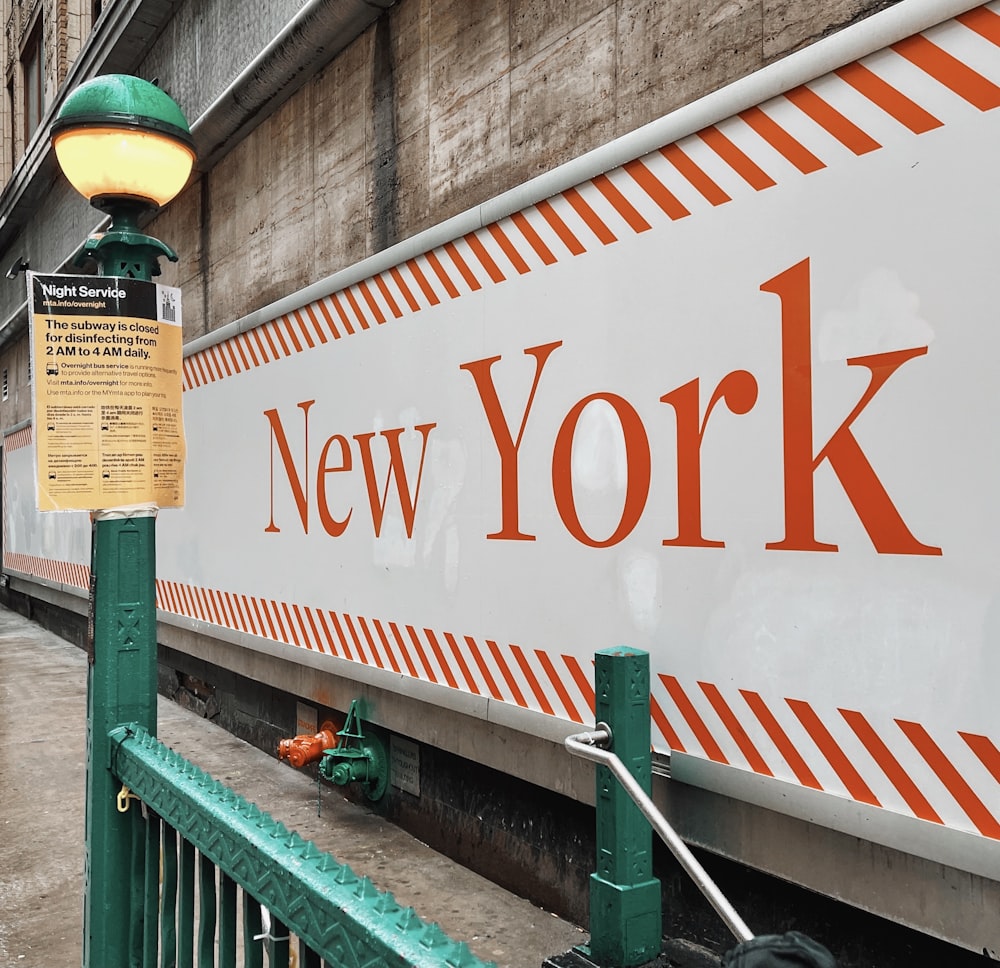
[[[0,966],[74,968],[83,921],[86,657],[0,608]],[[160,739],[500,968],[539,968],[580,928],[461,867],[160,697]]]

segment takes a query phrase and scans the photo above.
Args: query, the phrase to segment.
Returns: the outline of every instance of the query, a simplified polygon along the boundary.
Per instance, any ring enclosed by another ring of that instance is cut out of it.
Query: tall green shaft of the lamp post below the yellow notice
[[[97,257],[112,275],[116,263]],[[158,267],[138,248],[132,269],[149,281]],[[132,827],[118,811],[108,734],[129,723],[156,733],[156,510],[97,511],[93,521],[83,968],[129,968]]]

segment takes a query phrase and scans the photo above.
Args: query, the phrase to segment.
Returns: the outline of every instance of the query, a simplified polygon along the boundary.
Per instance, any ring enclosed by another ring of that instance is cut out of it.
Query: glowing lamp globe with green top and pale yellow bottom
[[[70,184],[95,207],[160,208],[185,186],[194,141],[177,104],[128,74],[81,84],[52,123],[52,144]]]

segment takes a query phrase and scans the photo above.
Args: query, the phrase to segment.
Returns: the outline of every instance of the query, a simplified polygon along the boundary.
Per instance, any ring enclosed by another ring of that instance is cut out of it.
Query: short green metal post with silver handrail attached
[[[649,655],[605,649],[595,656],[596,719],[611,730],[611,752],[646,793],[652,789]],[[590,957],[631,968],[660,953],[660,882],[653,834],[639,808],[604,766],[597,777],[597,871],[590,878]]]

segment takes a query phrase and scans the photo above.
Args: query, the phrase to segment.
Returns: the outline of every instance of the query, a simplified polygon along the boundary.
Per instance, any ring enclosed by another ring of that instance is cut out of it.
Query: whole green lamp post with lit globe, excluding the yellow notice
[[[52,143],[73,187],[111,216],[78,264],[92,258],[102,276],[149,281],[160,257],[177,261],[139,228],[144,213],[181,191],[194,164],[187,121],[170,97],[138,77],[95,77],[66,98]],[[117,809],[108,734],[131,723],[156,732],[156,507],[102,509],[92,518],[83,965],[128,968],[141,963],[143,947],[141,926],[122,917],[139,819]]]

